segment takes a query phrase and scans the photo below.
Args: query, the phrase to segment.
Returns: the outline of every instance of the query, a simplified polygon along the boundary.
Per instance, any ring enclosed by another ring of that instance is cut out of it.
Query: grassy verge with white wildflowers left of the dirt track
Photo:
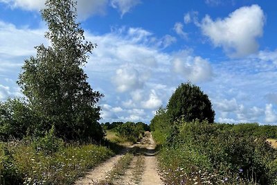
[[[51,155],[30,143],[0,143],[0,184],[72,184],[88,168],[114,155],[103,146],[69,145]]]

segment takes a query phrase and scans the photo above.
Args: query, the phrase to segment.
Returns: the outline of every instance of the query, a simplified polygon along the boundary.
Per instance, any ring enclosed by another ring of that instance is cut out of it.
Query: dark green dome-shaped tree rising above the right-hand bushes
[[[170,121],[177,121],[184,118],[184,121],[193,121],[207,119],[213,123],[215,112],[208,96],[196,85],[191,83],[182,83],[172,94],[168,102],[168,116]]]

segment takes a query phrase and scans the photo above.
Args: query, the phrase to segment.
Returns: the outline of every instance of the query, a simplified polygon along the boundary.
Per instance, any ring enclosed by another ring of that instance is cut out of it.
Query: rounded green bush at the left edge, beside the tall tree
[[[19,99],[8,99],[0,103],[0,139],[22,139],[30,132],[36,121],[28,105]]]

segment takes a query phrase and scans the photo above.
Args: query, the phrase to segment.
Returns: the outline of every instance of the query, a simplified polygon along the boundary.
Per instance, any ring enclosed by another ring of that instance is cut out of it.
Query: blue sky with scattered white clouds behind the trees
[[[0,0],[0,101],[34,46],[49,45],[44,0]],[[78,0],[93,50],[84,71],[100,100],[100,122],[150,123],[175,89],[192,82],[217,123],[277,123],[277,1]]]

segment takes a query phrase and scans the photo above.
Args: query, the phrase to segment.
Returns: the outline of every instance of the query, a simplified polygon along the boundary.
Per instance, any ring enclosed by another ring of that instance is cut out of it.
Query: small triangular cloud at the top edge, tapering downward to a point
[[[121,17],[139,3],[141,3],[140,0],[111,0],[111,6],[118,9],[121,13]]]

